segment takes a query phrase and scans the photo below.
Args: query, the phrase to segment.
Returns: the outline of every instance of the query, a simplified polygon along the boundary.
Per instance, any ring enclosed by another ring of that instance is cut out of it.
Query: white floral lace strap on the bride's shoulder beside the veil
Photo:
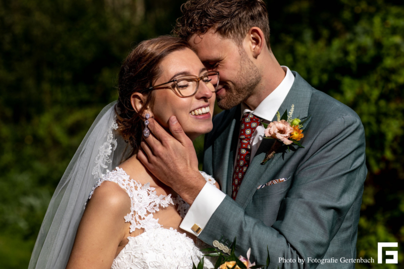
[[[145,231],[148,229],[157,229],[161,227],[159,219],[153,218],[153,213],[159,211],[159,207],[167,207],[169,204],[174,204],[171,199],[171,194],[157,195],[155,188],[150,187],[150,183],[143,186],[129,178],[129,175],[121,168],[116,168],[115,171],[103,175],[92,188],[88,199],[91,198],[95,188],[101,185],[104,181],[111,181],[117,183],[122,189],[126,191],[130,197],[131,206],[130,213],[124,218],[125,222],[130,222],[130,232],[135,229],[143,228]]]

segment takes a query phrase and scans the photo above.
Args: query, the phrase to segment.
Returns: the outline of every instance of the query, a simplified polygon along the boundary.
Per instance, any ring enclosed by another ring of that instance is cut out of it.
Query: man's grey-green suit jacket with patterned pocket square
[[[235,201],[230,195],[240,105],[214,118],[213,130],[205,136],[204,171],[228,195],[199,238],[211,245],[214,240],[229,245],[237,237],[236,254],[245,256],[251,248],[260,264],[266,262],[268,246],[271,268],[355,268],[340,258],[356,258],[367,175],[364,128],[348,106],[314,89],[296,72],[293,75],[293,86],[279,112],[282,115],[294,104],[293,117],[311,116],[300,141],[305,148],[276,153],[261,165],[274,143],[264,139]],[[280,178],[287,180],[257,189]],[[305,261],[298,263],[298,258]],[[337,263],[313,261],[331,258]]]

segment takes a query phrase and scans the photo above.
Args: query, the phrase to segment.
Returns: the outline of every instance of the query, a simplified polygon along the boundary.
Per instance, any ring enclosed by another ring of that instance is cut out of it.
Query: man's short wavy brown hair
[[[241,44],[251,27],[259,27],[269,45],[268,12],[263,0],[188,0],[181,6],[173,34],[189,40],[214,28],[223,37]]]

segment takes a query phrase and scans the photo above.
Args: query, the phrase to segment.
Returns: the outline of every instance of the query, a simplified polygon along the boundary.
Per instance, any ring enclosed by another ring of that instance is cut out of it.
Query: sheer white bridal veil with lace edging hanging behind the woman
[[[66,267],[92,187],[130,153],[127,143],[115,134],[115,104],[99,113],[63,174],[39,230],[29,269]]]

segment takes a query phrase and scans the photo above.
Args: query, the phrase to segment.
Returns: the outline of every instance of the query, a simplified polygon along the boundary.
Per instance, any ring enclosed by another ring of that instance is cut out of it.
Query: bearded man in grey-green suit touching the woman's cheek
[[[191,204],[180,227],[223,252],[236,237],[236,254],[251,248],[260,264],[268,246],[271,268],[355,268],[343,261],[356,258],[367,174],[358,115],[278,64],[262,0],[189,0],[182,12],[174,32],[220,72],[217,100],[225,111],[204,147],[204,171],[223,192],[200,176],[174,116],[173,136],[150,120],[154,136],[138,156]],[[281,147],[262,165],[275,140],[263,139],[261,122],[276,121],[276,112],[292,105],[292,118],[308,119],[304,148]]]

